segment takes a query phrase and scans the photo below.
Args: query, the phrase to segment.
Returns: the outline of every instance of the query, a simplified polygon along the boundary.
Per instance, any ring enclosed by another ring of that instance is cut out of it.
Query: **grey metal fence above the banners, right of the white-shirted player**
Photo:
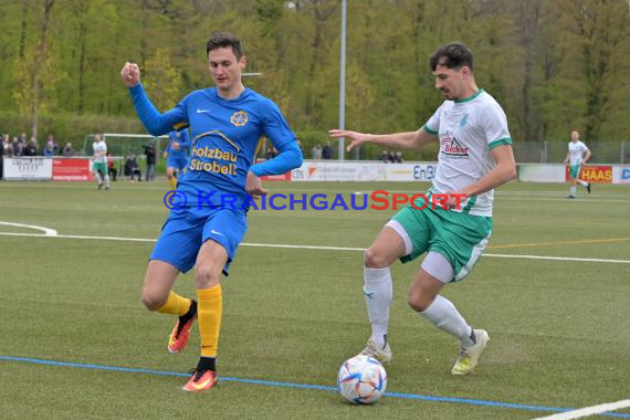
[[[561,164],[567,157],[568,141],[514,141],[514,157],[519,164]],[[591,164],[630,164],[630,141],[586,144]]]

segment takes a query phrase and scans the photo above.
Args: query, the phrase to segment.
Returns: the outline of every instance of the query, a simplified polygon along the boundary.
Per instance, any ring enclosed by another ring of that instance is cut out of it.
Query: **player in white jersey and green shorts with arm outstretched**
[[[453,375],[471,372],[490,342],[474,329],[440,291],[470,273],[485,249],[492,230],[494,188],[516,176],[512,138],[505,113],[477,88],[473,54],[462,43],[443,45],[429,61],[435,88],[447,99],[416,132],[388,135],[332,129],[332,137],[350,139],[348,150],[364,143],[388,148],[421,148],[440,143],[438,170],[427,201],[448,195],[447,209],[419,199],[396,213],[364,255],[364,294],[371,337],[364,355],[391,360],[387,339],[392,283],[389,266],[427,253],[413,277],[407,302],[435,327],[460,342]],[[435,202],[435,201],[433,201]],[[424,208],[423,208],[424,207]]]

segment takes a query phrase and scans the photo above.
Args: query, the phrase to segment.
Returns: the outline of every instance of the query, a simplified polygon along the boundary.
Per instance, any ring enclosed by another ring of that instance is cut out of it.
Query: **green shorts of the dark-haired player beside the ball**
[[[417,207],[422,204],[422,200],[416,202]],[[424,252],[439,252],[453,266],[453,282],[459,282],[471,272],[492,233],[491,217],[464,214],[440,207],[437,210],[431,207],[418,210],[408,206],[392,220],[402,225],[413,245],[411,253],[400,258],[400,261],[407,263]]]

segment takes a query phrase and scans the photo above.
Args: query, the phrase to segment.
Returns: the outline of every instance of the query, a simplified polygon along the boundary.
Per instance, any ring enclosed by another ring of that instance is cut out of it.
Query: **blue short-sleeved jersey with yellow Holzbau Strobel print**
[[[261,137],[276,148],[296,140],[279,107],[250,88],[234,99],[223,99],[214,87],[195,91],[171,113],[175,128],[190,126],[191,130],[190,157],[178,183],[188,207],[198,207],[200,198],[221,206],[231,197],[241,206]]]

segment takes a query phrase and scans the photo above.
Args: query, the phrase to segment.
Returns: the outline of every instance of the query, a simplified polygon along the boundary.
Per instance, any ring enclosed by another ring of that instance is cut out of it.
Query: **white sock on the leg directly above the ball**
[[[369,322],[371,324],[371,340],[380,348],[387,339],[389,323],[389,305],[392,297],[391,273],[387,269],[364,267],[364,295],[366,298]]]

